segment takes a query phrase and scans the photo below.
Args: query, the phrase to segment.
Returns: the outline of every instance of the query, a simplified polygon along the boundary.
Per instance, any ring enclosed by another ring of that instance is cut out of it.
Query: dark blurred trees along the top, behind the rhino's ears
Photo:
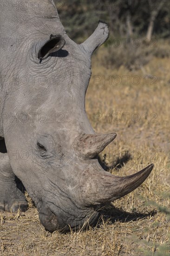
[[[61,0],[55,1],[60,19],[73,40],[88,37],[98,20],[105,21],[117,37],[169,37],[168,0]],[[151,31],[150,31],[151,29]],[[151,33],[149,33],[149,31]]]

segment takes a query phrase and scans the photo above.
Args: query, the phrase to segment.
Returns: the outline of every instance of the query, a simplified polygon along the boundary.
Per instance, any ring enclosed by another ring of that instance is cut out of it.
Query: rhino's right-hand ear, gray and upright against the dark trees
[[[108,36],[109,28],[107,24],[99,21],[93,34],[84,43],[80,44],[80,47],[83,47],[87,53],[92,55],[94,50],[107,40]]]

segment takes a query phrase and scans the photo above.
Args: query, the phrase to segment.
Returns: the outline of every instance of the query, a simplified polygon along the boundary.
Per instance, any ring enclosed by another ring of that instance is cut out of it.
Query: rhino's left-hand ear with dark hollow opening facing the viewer
[[[45,59],[49,54],[59,51],[65,45],[65,40],[61,35],[52,35],[39,50],[38,59]]]

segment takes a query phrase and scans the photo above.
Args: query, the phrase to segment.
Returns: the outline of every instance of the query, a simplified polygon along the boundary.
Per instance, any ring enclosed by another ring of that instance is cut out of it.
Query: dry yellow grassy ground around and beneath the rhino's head
[[[101,48],[93,57],[93,75],[86,97],[86,110],[95,131],[118,133],[100,155],[100,161],[105,169],[120,176],[138,171],[151,162],[155,168],[138,189],[103,209],[101,222],[93,229],[68,234],[46,232],[28,197],[29,209],[25,213],[0,214],[0,255],[169,255],[169,60],[153,57],[135,72],[124,66],[112,70],[101,63],[106,50]],[[96,75],[105,75],[106,79],[118,75],[122,82],[120,85],[109,85],[107,81],[103,85],[103,80],[94,83]],[[130,76],[127,84],[123,75]],[[140,77],[138,85],[131,82],[135,75]],[[155,85],[150,84],[152,75],[157,76]],[[130,113],[126,121],[122,114],[125,112]],[[122,120],[115,121],[118,116],[111,121],[101,117],[94,120],[94,113],[102,117],[103,113],[105,116],[119,113]],[[140,115],[138,122],[131,118],[135,119],[134,113]]]

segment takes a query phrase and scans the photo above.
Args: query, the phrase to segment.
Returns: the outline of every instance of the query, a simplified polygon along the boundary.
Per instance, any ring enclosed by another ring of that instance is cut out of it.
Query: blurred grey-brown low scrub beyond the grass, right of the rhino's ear
[[[168,40],[153,39],[150,44],[143,39],[111,39],[103,44],[106,47],[105,54],[101,55],[101,61],[105,67],[120,68],[122,65],[128,70],[138,70],[146,65],[153,56],[157,58],[169,58],[170,50],[167,47]],[[159,45],[158,45],[159,44]]]

